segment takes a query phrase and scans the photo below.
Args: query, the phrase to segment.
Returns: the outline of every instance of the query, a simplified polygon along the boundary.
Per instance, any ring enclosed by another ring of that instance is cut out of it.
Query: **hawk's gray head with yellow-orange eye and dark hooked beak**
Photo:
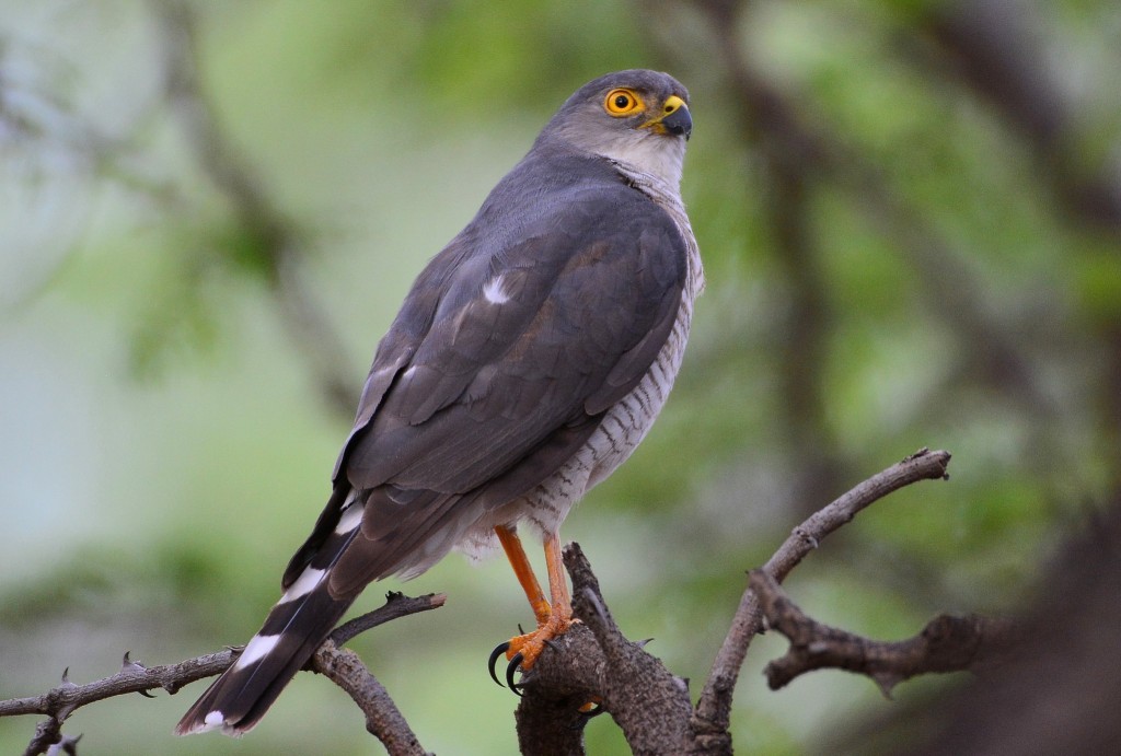
[[[568,97],[539,139],[630,164],[676,188],[693,131],[688,101],[669,74],[642,68],[606,74]]]

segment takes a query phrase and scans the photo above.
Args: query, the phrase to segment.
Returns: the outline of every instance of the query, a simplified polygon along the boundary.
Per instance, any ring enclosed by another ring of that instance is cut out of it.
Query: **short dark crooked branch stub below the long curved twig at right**
[[[938,615],[912,638],[871,641],[806,616],[766,570],[751,571],[751,590],[768,627],[790,640],[786,655],[763,672],[771,690],[810,670],[834,668],[871,678],[890,698],[892,688],[918,674],[991,668],[1020,635],[1008,619]]]

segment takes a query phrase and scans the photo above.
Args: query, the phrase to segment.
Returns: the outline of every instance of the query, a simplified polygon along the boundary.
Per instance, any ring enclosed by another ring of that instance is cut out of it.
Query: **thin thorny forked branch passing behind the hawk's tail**
[[[358,635],[359,632],[385,624],[391,619],[428,609],[436,609],[444,605],[445,598],[443,594],[429,594],[417,597],[389,594],[386,597],[383,606],[342,625],[335,633],[343,637],[344,641],[350,640]],[[354,628],[358,628],[358,632],[352,632]],[[340,641],[340,643],[344,641]],[[127,696],[129,693],[140,693],[151,698],[148,691],[157,689],[174,694],[188,683],[221,674],[233,663],[240,653],[241,648],[226,648],[225,651],[204,654],[176,664],[164,664],[160,666],[145,666],[140,662],[132,661],[129,654],[126,653],[121,669],[117,674],[80,685],[71,682],[70,670],[66,670],[63,672],[62,683],[41,696],[0,701],[0,717],[46,715],[47,719],[37,726],[35,737],[24,752],[25,756],[43,754],[46,753],[48,747],[62,740],[63,722],[80,708],[108,698]],[[355,692],[352,692],[352,689],[362,689],[355,682],[358,680],[356,675],[360,672],[364,672],[369,676],[369,672],[364,668],[362,670],[354,669],[356,660],[358,657],[351,652],[339,648],[332,640],[316,652],[311,669],[326,675],[346,690],[353,698]],[[358,662],[358,664],[361,665],[361,662]],[[369,679],[373,680],[372,676],[369,676]],[[373,681],[373,683],[377,684],[377,681]],[[372,687],[368,684],[364,690],[372,690]],[[388,697],[386,698],[388,699]],[[370,730],[378,735],[388,747],[389,740],[382,738],[383,730],[395,722],[397,726],[404,725],[404,718],[400,717],[400,712],[397,712],[396,707],[392,707],[391,711],[376,711],[377,707],[383,703],[382,699],[376,696],[359,703],[367,713],[368,721],[376,716],[380,716],[381,722],[388,722],[388,725],[382,725],[379,731]],[[396,718],[393,717],[395,712]],[[390,740],[393,741],[408,743],[410,738],[414,743],[416,741],[416,737],[408,730],[407,726],[405,726],[405,731],[393,730],[388,735]],[[419,748],[419,746],[417,747]],[[416,754],[423,752],[390,749],[390,753]]]

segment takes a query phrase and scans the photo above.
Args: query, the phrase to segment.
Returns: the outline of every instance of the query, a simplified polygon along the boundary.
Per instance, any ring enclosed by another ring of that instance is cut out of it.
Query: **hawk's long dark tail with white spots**
[[[333,532],[269,612],[263,627],[249,642],[233,666],[206,689],[175,728],[192,735],[221,728],[225,735],[244,735],[261,720],[280,691],[331,634],[353,603],[333,598],[327,590],[331,570],[354,540],[362,504],[353,500]]]

